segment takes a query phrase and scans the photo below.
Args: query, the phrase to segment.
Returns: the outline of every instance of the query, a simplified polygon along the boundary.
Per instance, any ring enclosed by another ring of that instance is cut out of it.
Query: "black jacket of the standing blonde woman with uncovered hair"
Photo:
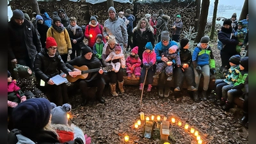
[[[132,30],[132,47],[138,46],[138,55],[140,59],[142,59],[142,53],[145,50],[144,47],[147,44],[147,42],[151,42],[151,44],[155,45],[155,38],[154,38],[154,29],[152,26],[149,26],[146,28],[143,33],[141,33],[140,28],[135,27]]]

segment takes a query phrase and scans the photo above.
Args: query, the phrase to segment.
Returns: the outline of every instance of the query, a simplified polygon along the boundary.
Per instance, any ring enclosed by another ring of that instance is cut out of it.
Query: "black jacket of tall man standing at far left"
[[[36,28],[27,19],[20,26],[14,19],[8,22],[8,59],[35,58],[36,53],[42,50],[42,45]]]

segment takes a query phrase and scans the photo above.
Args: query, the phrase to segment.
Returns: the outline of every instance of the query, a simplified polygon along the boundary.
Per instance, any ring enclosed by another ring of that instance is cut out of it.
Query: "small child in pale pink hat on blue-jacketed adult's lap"
[[[172,81],[172,75],[173,75],[173,60],[176,61],[177,67],[180,67],[180,56],[179,56],[179,51],[177,51],[178,46],[177,45],[172,45],[168,49],[168,51],[165,51],[161,54],[162,58],[166,57],[168,58],[168,61],[166,63],[157,63],[156,65],[156,78],[159,78],[159,74],[162,72],[162,70],[165,70],[166,76],[168,78],[166,79],[167,81]]]

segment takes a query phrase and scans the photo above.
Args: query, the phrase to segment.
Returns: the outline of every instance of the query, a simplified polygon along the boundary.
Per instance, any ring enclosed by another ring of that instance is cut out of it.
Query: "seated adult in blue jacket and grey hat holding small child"
[[[156,61],[157,63],[166,63],[168,58],[162,57],[161,53],[168,51],[172,45],[178,45],[175,41],[170,40],[170,33],[168,31],[162,31],[161,33],[161,42],[156,44],[154,51],[156,52]],[[175,60],[172,61],[174,65]],[[168,76],[165,72],[161,72],[158,79],[158,94],[160,97],[168,97],[170,95],[170,85],[171,81],[166,81]]]

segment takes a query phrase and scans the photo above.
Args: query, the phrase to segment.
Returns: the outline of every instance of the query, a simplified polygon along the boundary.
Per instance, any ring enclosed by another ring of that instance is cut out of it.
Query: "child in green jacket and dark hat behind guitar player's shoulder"
[[[101,58],[101,54],[102,54],[102,50],[104,47],[105,43],[102,40],[102,35],[98,34],[96,37],[96,43],[93,45],[93,53],[95,54],[95,56],[97,58],[99,58],[100,62],[102,63],[102,58]]]

